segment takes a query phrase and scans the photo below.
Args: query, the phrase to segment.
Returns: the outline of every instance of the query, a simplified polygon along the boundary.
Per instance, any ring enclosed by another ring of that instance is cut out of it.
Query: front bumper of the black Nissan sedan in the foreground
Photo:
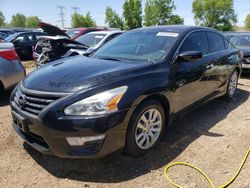
[[[43,116],[33,116],[22,111],[13,101],[11,107],[15,131],[41,153],[62,158],[99,158],[125,146],[128,110],[84,119],[63,115],[52,117],[49,111]],[[25,127],[20,126],[16,116],[25,120]],[[66,140],[67,137],[98,135],[105,135],[105,138],[86,142],[81,146],[72,146]]]

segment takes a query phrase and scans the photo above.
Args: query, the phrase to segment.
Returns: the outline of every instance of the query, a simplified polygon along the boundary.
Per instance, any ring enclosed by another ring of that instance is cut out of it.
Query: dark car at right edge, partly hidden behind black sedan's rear
[[[250,71],[250,33],[238,33],[231,38],[233,45],[243,52],[243,71]]]

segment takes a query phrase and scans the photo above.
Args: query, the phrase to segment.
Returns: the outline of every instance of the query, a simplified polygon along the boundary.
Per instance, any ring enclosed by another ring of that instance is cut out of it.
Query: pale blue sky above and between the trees
[[[110,6],[122,15],[124,0],[0,0],[0,11],[5,15],[6,21],[17,12],[26,16],[38,16],[42,21],[61,26],[59,9],[63,6],[65,26],[70,27],[72,7],[79,7],[78,13],[90,12],[99,26],[105,25],[105,9]],[[142,0],[144,7],[145,0]],[[192,14],[192,0],[175,0],[175,14],[184,18],[185,25],[194,25]],[[234,8],[238,15],[237,25],[243,26],[247,14],[250,14],[250,0],[234,0]]]

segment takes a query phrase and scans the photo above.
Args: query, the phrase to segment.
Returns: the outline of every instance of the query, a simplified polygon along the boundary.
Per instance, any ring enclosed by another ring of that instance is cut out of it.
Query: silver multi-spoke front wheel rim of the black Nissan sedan
[[[139,118],[135,129],[135,141],[140,149],[149,149],[160,137],[162,116],[159,110],[149,109]]]

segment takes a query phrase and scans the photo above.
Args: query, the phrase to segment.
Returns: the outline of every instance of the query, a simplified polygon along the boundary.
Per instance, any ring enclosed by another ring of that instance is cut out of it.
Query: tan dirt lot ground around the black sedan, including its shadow
[[[66,160],[23,144],[11,127],[9,93],[0,99],[0,187],[171,187],[163,176],[173,161],[193,163],[216,187],[229,180],[250,146],[250,77],[232,101],[216,99],[170,127],[155,151],[141,158],[121,152],[99,160]],[[185,187],[208,187],[196,172],[175,167]],[[250,187],[250,160],[231,187]]]

